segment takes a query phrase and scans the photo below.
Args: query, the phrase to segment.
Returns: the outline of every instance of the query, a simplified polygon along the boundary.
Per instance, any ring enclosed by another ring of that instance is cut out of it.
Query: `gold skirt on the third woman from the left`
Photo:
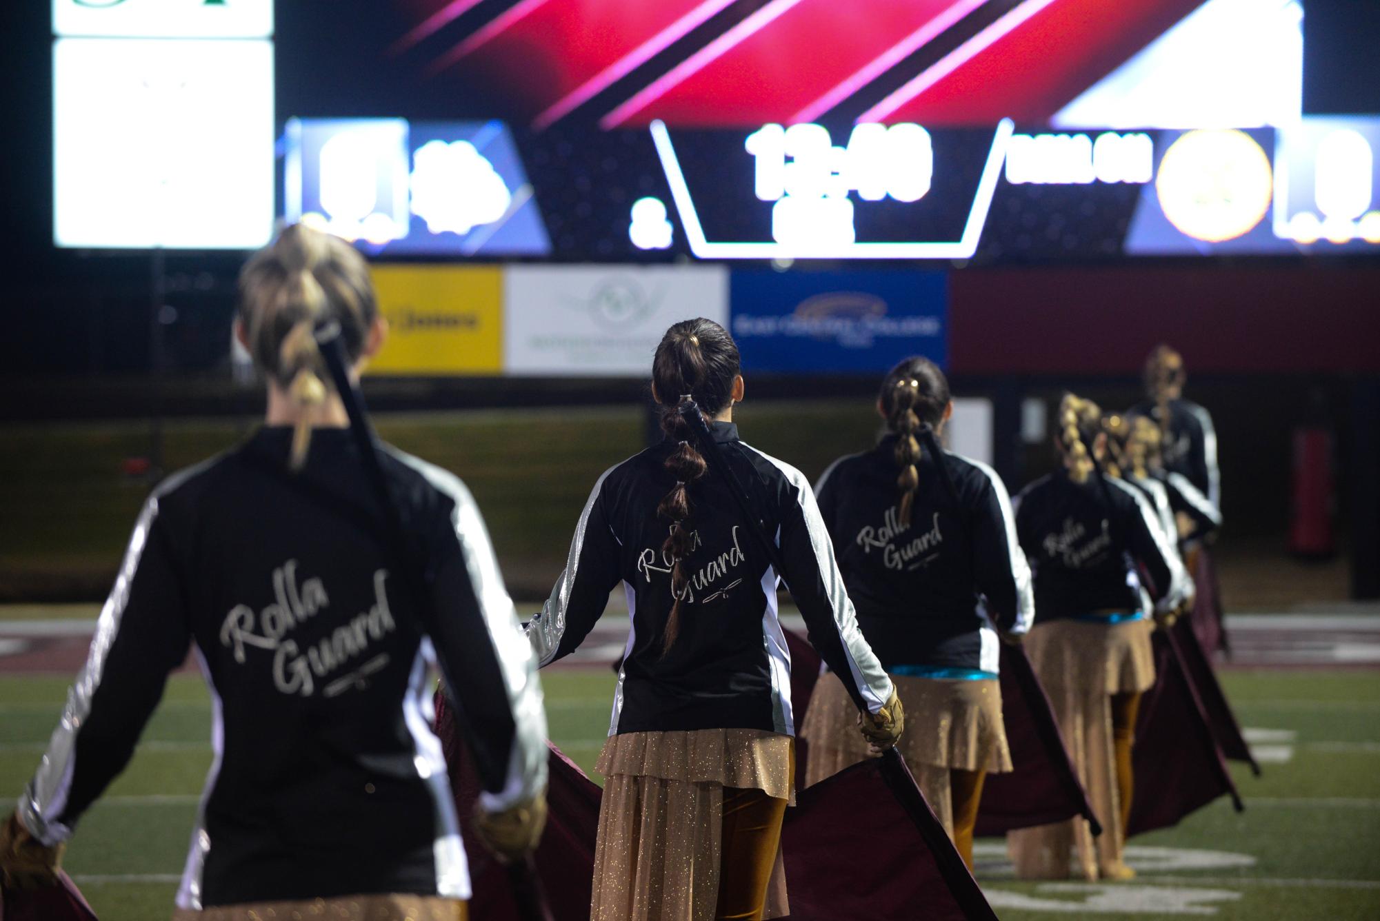
[[[949,771],[1012,769],[1002,722],[1002,688],[995,678],[955,680],[891,676],[905,713],[896,750],[944,830],[954,837]],[[807,743],[806,786],[875,757],[858,732],[858,709],[836,674],[820,676],[810,695],[800,739]]]

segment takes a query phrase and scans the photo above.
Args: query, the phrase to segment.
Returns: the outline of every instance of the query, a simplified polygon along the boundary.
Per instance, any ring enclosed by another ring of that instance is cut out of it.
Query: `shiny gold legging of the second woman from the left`
[[[781,847],[785,800],[762,790],[723,789],[723,845],[719,851],[719,920],[760,918]]]

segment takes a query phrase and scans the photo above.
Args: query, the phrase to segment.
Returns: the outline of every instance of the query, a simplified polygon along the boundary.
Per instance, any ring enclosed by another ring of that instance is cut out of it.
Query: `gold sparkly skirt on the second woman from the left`
[[[591,921],[712,921],[723,789],[793,802],[792,746],[791,736],[760,729],[609,736],[596,765],[604,789]],[[766,917],[787,914],[777,851]]]

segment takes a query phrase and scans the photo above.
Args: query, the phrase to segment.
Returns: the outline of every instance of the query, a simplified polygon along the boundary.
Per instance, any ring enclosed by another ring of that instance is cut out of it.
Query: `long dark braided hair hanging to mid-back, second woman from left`
[[[671,535],[661,545],[662,557],[671,560],[671,616],[661,637],[665,655],[680,633],[680,611],[689,594],[690,576],[686,558],[694,550],[690,518],[690,487],[708,470],[705,459],[690,440],[690,426],[680,416],[682,396],[694,397],[705,416],[715,416],[733,398],[738,376],[738,346],[733,336],[713,320],[682,320],[661,338],[651,361],[651,382],[661,404],[661,430],[680,444],[667,458],[665,467],[676,478],[671,492],[657,506],[657,516],[671,523]]]

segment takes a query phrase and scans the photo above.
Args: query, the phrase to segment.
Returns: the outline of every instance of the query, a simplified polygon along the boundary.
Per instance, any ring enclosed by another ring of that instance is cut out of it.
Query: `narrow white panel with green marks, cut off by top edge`
[[[58,36],[266,39],[273,0],[52,0]]]

